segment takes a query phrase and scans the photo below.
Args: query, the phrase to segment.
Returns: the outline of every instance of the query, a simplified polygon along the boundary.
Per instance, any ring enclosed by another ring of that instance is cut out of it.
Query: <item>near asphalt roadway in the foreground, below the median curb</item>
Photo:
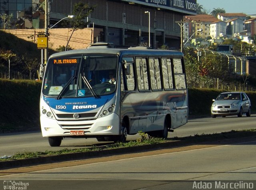
[[[234,189],[234,185],[256,189],[255,145],[255,137],[226,139],[6,170],[0,172],[0,180],[28,183],[26,189],[37,190]]]

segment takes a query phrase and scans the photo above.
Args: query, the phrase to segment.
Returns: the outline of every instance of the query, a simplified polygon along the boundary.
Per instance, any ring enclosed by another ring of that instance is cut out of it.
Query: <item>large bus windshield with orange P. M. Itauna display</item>
[[[43,94],[48,97],[99,97],[116,89],[117,55],[75,54],[49,59]]]

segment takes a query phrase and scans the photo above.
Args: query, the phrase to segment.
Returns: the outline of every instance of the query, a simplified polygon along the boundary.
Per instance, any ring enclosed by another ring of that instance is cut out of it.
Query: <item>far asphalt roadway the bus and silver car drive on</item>
[[[251,117],[238,118],[233,117],[217,117],[217,118],[198,118],[190,119],[188,123],[178,129],[174,133],[169,133],[168,138],[187,137],[202,134],[214,134],[232,130],[255,129],[256,115]],[[139,135],[129,135],[128,140],[136,140]],[[101,142],[102,143],[102,142]],[[12,156],[17,152],[35,152],[45,150],[62,150],[64,148],[85,148],[93,144],[99,144],[96,139],[69,139],[62,141],[60,147],[50,147],[48,139],[43,138],[40,131],[31,133],[8,133],[0,134],[0,157]]]

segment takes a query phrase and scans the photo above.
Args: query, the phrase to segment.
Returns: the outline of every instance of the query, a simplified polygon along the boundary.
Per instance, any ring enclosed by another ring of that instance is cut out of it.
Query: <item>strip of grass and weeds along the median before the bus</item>
[[[202,135],[194,135],[189,137],[174,137],[172,139],[161,139],[161,138],[147,138],[148,135],[140,131],[139,132],[140,137],[136,139],[136,141],[128,141],[125,143],[117,142],[117,143],[100,145],[100,146],[94,145],[89,148],[76,148],[76,149],[65,148],[63,150],[56,150],[56,151],[47,150],[45,152],[18,152],[13,156],[6,156],[6,157],[0,158],[0,162],[28,159],[28,158],[39,158],[43,156],[57,156],[62,154],[71,154],[71,153],[78,153],[78,152],[92,152],[92,151],[99,152],[102,150],[112,150],[117,148],[129,148],[129,147],[145,146],[145,145],[153,145],[151,146],[151,149],[152,148],[154,149],[154,145],[160,144],[160,143],[170,143],[172,141],[184,141],[184,142],[187,141],[189,143],[198,143],[198,142],[213,141],[218,139],[247,137],[247,136],[255,135],[255,132],[256,132],[256,129],[249,129],[249,130],[243,130],[243,131],[230,131],[230,132],[224,132],[224,133],[202,134]],[[172,146],[175,146],[175,145],[172,145]],[[162,146],[162,148],[164,148],[164,146]],[[141,148],[140,150],[143,150],[143,149],[145,148]]]

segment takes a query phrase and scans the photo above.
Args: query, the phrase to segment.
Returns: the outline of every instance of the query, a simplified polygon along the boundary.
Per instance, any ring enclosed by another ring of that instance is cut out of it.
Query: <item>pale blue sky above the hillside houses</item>
[[[226,13],[256,14],[256,0],[196,0],[208,14],[214,8],[223,8]]]

